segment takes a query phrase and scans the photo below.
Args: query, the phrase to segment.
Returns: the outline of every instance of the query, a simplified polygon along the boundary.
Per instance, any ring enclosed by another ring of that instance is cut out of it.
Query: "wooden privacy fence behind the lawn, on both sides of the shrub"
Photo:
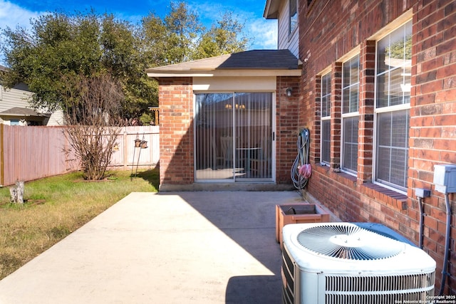
[[[63,134],[64,126],[34,127],[0,124],[0,186],[80,169]],[[110,169],[154,167],[160,159],[159,127],[123,127],[111,157]],[[135,148],[135,139],[147,149]]]

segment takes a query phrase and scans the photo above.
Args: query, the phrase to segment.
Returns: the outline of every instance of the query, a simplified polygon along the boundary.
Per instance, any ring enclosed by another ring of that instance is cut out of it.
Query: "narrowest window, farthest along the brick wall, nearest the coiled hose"
[[[321,162],[329,164],[331,152],[331,74],[321,77]]]

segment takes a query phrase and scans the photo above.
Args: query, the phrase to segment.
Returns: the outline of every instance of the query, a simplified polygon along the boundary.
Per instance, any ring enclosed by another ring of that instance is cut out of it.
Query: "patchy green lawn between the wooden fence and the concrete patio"
[[[108,172],[87,182],[81,172],[26,182],[24,204],[0,188],[0,279],[71,234],[130,192],[157,192],[158,169]]]

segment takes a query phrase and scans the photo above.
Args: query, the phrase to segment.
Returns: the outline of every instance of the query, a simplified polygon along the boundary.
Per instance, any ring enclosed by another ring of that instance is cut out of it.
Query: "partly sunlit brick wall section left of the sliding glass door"
[[[160,186],[192,184],[192,78],[161,78],[159,100]]]

